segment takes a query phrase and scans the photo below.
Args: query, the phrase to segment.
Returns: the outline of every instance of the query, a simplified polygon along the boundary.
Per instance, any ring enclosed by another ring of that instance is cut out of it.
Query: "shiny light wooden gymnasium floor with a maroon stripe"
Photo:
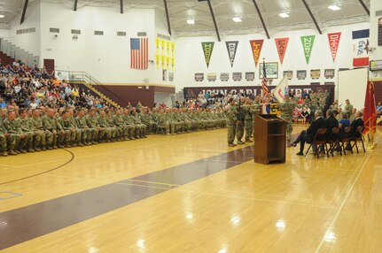
[[[381,146],[258,165],[218,129],[0,157],[0,251],[381,252]]]

